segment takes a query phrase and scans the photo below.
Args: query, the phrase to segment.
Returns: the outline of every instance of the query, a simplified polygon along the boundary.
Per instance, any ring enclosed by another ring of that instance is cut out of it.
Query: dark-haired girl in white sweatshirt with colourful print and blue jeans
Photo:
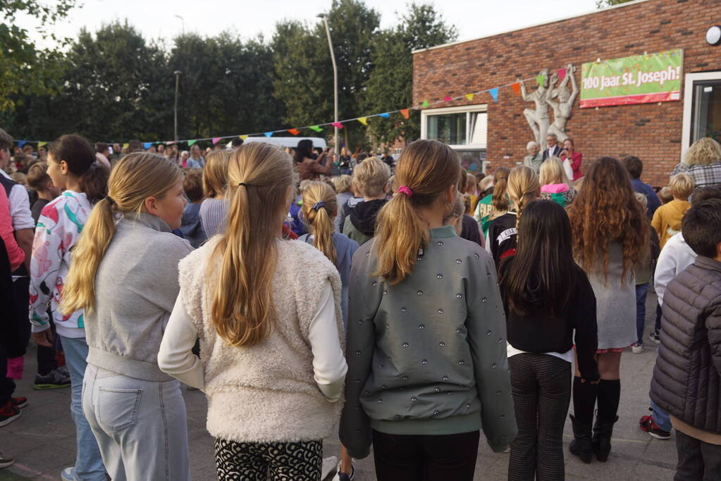
[[[93,204],[107,194],[107,168],[95,161],[92,145],[80,135],[63,135],[48,149],[48,176],[65,189],[43,207],[37,220],[30,259],[30,322],[32,338],[40,346],[53,346],[48,302],[56,332],[65,351],[71,380],[71,411],[76,428],[76,461],[63,480],[105,480],[97,441],[83,414],[81,391],[88,355],[83,310],[63,315],[58,305],[68,276],[71,248],[75,246]]]

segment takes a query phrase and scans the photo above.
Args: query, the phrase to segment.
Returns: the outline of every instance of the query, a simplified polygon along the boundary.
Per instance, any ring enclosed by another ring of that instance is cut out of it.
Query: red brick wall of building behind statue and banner
[[[552,22],[525,30],[425,50],[413,55],[413,102],[420,105],[444,96],[534,78],[542,68],[554,71],[596,58],[610,60],[644,52],[684,49],[686,73],[721,70],[721,46],[705,41],[706,30],[721,23],[720,0],[650,0],[604,12]],[[482,34],[482,32],[479,32]],[[536,82],[526,85],[531,90]],[[681,86],[683,97],[684,84]],[[498,102],[488,103],[487,159],[490,170],[523,161],[526,143],[533,140],[523,109],[534,108],[509,88]],[[485,98],[487,97],[487,98]],[[451,107],[473,102],[448,102]],[[566,125],[584,164],[598,156],[634,154],[644,161],[642,179],[654,186],[668,183],[668,173],[681,158],[684,102],[663,102],[598,109],[580,109],[578,98]],[[510,158],[504,158],[509,156]],[[583,167],[582,167],[583,170]]]

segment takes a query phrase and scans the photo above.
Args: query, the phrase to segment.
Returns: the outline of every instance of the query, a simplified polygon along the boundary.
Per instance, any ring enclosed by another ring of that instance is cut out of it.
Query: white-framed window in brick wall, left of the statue
[[[420,137],[441,140],[459,153],[464,168],[484,170],[488,132],[486,105],[421,112]]]

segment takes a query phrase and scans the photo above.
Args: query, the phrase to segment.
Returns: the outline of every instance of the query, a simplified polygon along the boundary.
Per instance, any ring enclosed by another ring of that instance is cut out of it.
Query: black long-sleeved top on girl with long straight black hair
[[[500,266],[500,274],[513,262],[513,257]],[[574,290],[568,305],[561,311],[559,318],[551,318],[543,305],[531,306],[528,315],[518,315],[508,309],[505,288],[500,285],[503,305],[506,312],[508,343],[516,349],[532,353],[564,353],[576,346],[578,370],[583,379],[598,380],[598,365],[593,356],[598,349],[598,326],[596,325],[596,295],[588,282],[585,272],[576,267],[572,275],[576,276]],[[533,299],[533,279],[528,279],[528,289]],[[575,331],[575,336],[573,335]]]

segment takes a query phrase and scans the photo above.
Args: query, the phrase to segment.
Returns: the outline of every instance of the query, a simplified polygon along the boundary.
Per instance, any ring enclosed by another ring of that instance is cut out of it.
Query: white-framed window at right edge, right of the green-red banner
[[[721,142],[721,72],[686,74],[682,154],[704,137]]]

